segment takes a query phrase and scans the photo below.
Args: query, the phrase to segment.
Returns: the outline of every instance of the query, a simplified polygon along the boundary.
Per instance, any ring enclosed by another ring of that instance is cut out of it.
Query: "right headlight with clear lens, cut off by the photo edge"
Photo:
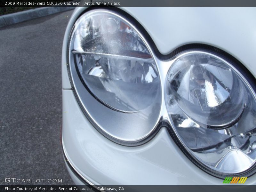
[[[226,60],[182,54],[169,69],[165,94],[174,131],[199,162],[229,174],[256,162],[255,93]]]

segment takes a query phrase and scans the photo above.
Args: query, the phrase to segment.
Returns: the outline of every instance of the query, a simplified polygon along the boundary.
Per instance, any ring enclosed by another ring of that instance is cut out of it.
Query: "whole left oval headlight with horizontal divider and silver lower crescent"
[[[121,142],[139,142],[152,132],[161,106],[160,78],[131,23],[106,10],[84,13],[74,25],[68,55],[78,97],[99,131]]]

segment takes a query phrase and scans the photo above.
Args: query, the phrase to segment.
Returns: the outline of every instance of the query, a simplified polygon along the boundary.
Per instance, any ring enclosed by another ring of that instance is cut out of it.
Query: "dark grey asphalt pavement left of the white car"
[[[73,184],[60,144],[61,49],[71,13],[0,28],[0,185],[29,184],[6,177]]]

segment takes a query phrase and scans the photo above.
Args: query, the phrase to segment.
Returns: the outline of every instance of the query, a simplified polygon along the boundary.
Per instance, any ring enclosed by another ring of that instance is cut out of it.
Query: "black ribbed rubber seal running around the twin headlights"
[[[79,18],[85,12],[88,12],[88,11],[91,11],[91,10],[96,10],[98,8],[99,7],[89,7],[84,12],[82,12],[77,18]],[[100,7],[100,8],[102,8],[102,7]],[[175,50],[173,50],[169,54],[163,55],[157,49],[156,44],[154,43],[152,38],[149,36],[148,32],[131,15],[129,15],[128,13],[126,13],[123,10],[121,10],[119,8],[116,8],[116,7],[103,7],[103,8],[105,8],[106,10],[110,10],[110,11],[116,12],[120,16],[122,16],[122,17],[126,18],[127,20],[129,20],[129,22],[132,23],[133,26],[135,26],[138,30],[140,30],[140,33],[146,39],[147,43],[149,44],[149,46],[151,47],[152,51],[154,52],[154,54],[156,55],[156,57],[158,59],[160,59],[160,60],[175,59],[177,57],[177,55],[181,54],[182,52],[188,52],[189,50],[192,50],[192,49],[194,51],[196,50],[196,51],[211,52],[211,53],[213,53],[215,55],[218,55],[221,58],[227,60],[228,62],[232,63],[235,68],[239,69],[241,74],[243,74],[243,75],[246,74],[246,76],[244,76],[244,77],[246,78],[248,83],[251,85],[252,89],[254,91],[256,90],[256,79],[252,75],[252,73],[239,60],[237,60],[235,57],[233,57],[229,53],[221,50],[220,48],[217,48],[217,47],[214,47],[214,46],[211,46],[211,45],[207,45],[207,44],[196,44],[196,43],[193,43],[193,44],[182,45],[180,47],[177,47]],[[72,34],[73,30],[74,30],[74,28],[71,30],[70,34]],[[69,40],[68,40],[68,47],[69,47],[70,42],[71,42],[70,37],[69,37]],[[68,55],[69,55],[69,49],[67,50],[67,61],[69,61],[69,56]],[[157,124],[156,128],[151,132],[151,134],[149,134],[147,136],[147,138],[145,138],[143,140],[140,140],[138,142],[126,142],[126,141],[117,140],[117,139],[111,137],[110,135],[108,135],[104,131],[102,131],[99,127],[97,127],[97,125],[94,123],[94,121],[90,118],[90,116],[87,115],[86,111],[84,110],[83,105],[80,103],[80,100],[79,100],[79,98],[77,96],[76,90],[74,89],[74,84],[73,84],[73,81],[72,81],[72,78],[71,78],[71,74],[70,74],[70,70],[69,70],[68,65],[67,65],[67,68],[68,68],[69,81],[70,81],[70,83],[72,85],[72,90],[74,92],[74,95],[76,97],[76,100],[77,100],[80,108],[84,112],[84,114],[87,117],[87,119],[91,122],[91,124],[102,135],[104,135],[109,140],[112,140],[113,142],[115,142],[117,144],[120,144],[120,145],[124,145],[124,146],[129,146],[129,147],[139,146],[139,145],[143,145],[143,144],[147,143],[149,140],[154,138],[154,136],[157,134],[157,132],[160,130],[160,128],[165,126],[165,127],[168,128],[168,131],[169,131],[172,139],[175,141],[175,143],[180,148],[180,150],[190,159],[190,161],[192,161],[193,164],[195,164],[197,167],[199,167],[204,172],[207,172],[208,174],[213,175],[213,176],[215,176],[217,178],[221,178],[221,179],[224,179],[227,176],[251,176],[251,175],[253,175],[256,172],[256,163],[250,169],[248,169],[248,170],[246,170],[244,172],[240,172],[238,174],[223,174],[221,172],[216,172],[215,170],[212,170],[212,169],[206,167],[200,161],[197,161],[190,153],[188,153],[187,149],[183,146],[183,144],[180,142],[180,139],[178,138],[176,133],[173,131],[171,125],[168,122],[164,121],[164,120],[160,120],[159,121],[159,123]],[[97,98],[95,98],[95,99],[97,99]]]

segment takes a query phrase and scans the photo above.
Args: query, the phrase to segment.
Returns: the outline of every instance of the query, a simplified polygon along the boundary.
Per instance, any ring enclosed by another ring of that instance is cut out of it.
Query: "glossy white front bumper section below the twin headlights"
[[[126,147],[98,132],[79,107],[72,90],[63,90],[63,150],[71,165],[94,185],[220,185],[177,147],[162,127],[144,145]],[[85,174],[86,173],[86,174]],[[76,184],[81,184],[72,177]],[[246,184],[255,185],[256,175]]]

